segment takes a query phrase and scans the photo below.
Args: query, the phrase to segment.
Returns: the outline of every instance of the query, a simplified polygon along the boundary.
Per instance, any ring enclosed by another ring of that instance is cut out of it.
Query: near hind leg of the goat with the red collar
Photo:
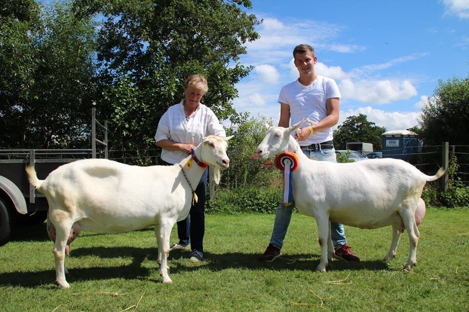
[[[54,249],[52,250],[55,258],[56,283],[62,288],[70,288],[65,279],[65,248],[73,220],[68,213],[61,210],[53,211],[50,218],[56,231]]]

